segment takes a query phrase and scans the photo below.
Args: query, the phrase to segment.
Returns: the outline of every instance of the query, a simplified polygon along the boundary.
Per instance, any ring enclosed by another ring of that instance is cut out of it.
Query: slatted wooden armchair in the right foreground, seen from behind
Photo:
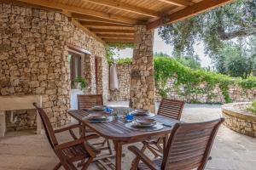
[[[164,156],[154,161],[145,156],[136,146],[128,147],[137,156],[131,169],[203,170],[210,159],[212,143],[222,122],[224,118],[211,122],[175,124]],[[139,163],[139,161],[142,162]]]

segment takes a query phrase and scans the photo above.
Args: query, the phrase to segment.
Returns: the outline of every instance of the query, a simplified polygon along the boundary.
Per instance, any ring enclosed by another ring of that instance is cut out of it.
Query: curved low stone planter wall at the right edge
[[[231,103],[222,106],[222,114],[225,118],[224,126],[256,138],[256,115],[249,114],[239,107],[245,107],[250,103]]]

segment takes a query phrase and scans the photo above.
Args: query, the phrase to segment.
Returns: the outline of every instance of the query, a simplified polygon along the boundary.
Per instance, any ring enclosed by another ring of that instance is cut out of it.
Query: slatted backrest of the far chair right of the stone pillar
[[[184,104],[185,101],[182,100],[162,99],[157,114],[179,120],[183,112]]]

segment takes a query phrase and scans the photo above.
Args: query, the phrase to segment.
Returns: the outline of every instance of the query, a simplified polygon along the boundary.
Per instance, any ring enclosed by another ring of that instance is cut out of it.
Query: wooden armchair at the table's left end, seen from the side
[[[77,167],[73,165],[74,161],[84,162],[81,167],[83,170],[87,169],[87,167],[89,167],[90,163],[96,157],[95,151],[90,147],[87,141],[89,139],[98,138],[98,135],[92,134],[84,138],[77,139],[73,133],[73,129],[83,129],[83,127],[79,124],[54,130],[44,110],[42,108],[39,108],[36,103],[33,103],[33,105],[38,110],[38,113],[42,119],[45,134],[47,136],[47,139],[49,140],[49,144],[51,148],[55,151],[55,155],[60,160],[60,162],[54,167],[54,170],[59,169],[61,166],[63,166],[66,170],[76,170]],[[55,133],[62,133],[65,131],[69,131],[74,140],[71,142],[59,144],[55,137]]]

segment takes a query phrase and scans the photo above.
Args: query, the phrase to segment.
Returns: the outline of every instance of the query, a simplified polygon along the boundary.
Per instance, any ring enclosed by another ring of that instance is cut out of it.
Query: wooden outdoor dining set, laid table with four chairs
[[[78,124],[54,130],[44,110],[36,103],[33,105],[60,160],[54,170],[61,166],[67,170],[87,169],[93,162],[102,169],[120,170],[125,144],[129,144],[128,150],[135,155],[131,169],[204,169],[211,159],[218,127],[224,122],[224,118],[181,122],[184,106],[181,100],[162,99],[154,114],[142,109],[109,107],[103,104],[101,94],[95,94],[78,95],[78,110],[68,111]],[[65,131],[69,131],[73,141],[59,144],[55,134]],[[142,142],[143,147],[131,145],[137,142]],[[145,155],[147,149],[153,160]]]

